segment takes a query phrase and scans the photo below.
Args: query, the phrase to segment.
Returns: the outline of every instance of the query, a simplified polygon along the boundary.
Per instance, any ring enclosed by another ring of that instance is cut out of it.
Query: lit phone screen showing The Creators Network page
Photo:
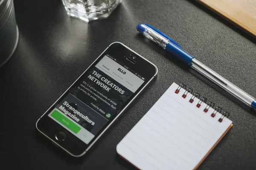
[[[118,59],[105,55],[79,77],[48,116],[89,144],[145,80]]]

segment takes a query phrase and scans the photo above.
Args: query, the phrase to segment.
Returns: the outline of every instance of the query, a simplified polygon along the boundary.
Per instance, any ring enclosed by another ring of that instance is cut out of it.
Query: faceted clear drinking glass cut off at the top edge
[[[87,23],[107,18],[122,0],[62,0],[67,14]]]

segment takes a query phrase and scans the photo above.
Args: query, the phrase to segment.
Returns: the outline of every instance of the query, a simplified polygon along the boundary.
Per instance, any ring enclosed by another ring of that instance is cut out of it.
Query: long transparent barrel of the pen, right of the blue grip
[[[205,77],[211,79],[221,88],[223,88],[224,90],[226,90],[227,92],[235,96],[237,99],[244,102],[246,105],[250,106],[251,103],[255,101],[255,98],[253,96],[250,96],[240,88],[236,87],[236,85],[233,85],[233,83],[229,82],[227,79],[224,79],[219,74],[212,71],[210,68],[208,68],[206,65],[204,65],[197,59],[195,58],[192,59],[191,67],[199,71]]]

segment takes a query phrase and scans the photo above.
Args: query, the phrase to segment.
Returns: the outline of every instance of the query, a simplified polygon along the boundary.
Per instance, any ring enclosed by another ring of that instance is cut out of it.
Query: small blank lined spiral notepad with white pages
[[[229,113],[173,83],[116,147],[142,170],[192,170],[232,127]]]

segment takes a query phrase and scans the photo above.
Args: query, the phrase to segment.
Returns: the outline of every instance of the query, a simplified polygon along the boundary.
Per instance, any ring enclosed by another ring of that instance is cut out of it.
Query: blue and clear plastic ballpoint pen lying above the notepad
[[[178,45],[174,40],[167,37],[165,34],[153,28],[152,26],[149,26],[148,24],[139,24],[136,28],[145,37],[157,43],[163,49],[165,49],[166,51],[180,59],[182,62],[184,62],[186,65],[191,66],[196,71],[198,71],[208,79],[212,80],[212,82],[215,82],[225,91],[235,96],[241,102],[256,110],[256,99],[253,96],[250,96],[245,91],[236,87],[236,85],[229,82],[227,79],[220,76],[215,71],[208,68],[206,65],[204,65],[197,59],[195,59],[195,57],[184,51],[180,47],[180,45]]]

